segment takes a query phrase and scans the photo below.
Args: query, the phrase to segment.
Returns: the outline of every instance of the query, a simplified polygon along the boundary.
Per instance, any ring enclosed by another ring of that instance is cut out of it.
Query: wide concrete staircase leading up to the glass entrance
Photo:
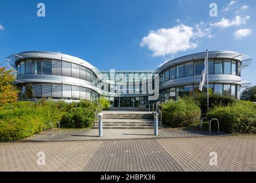
[[[103,112],[104,129],[153,129],[154,119],[149,112],[120,112],[107,111]],[[96,129],[99,123],[96,123]]]

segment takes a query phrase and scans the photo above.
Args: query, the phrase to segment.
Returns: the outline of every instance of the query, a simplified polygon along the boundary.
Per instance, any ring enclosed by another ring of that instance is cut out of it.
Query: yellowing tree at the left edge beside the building
[[[18,90],[12,83],[15,80],[13,70],[7,70],[7,67],[0,67],[0,109],[7,102],[18,100]]]

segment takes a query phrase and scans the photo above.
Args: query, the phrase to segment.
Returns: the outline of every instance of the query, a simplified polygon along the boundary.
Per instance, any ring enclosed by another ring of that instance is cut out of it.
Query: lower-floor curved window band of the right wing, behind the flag
[[[160,102],[177,100],[184,96],[193,97],[199,93],[199,85],[184,85],[170,87],[160,91]],[[209,83],[209,89],[214,93],[219,93],[226,96],[238,98],[238,92],[240,91],[240,85],[234,85],[230,83]],[[204,85],[203,92],[207,92],[207,86]]]

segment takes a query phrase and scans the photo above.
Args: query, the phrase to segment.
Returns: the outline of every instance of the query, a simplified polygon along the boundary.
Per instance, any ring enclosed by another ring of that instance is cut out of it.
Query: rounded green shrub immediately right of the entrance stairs
[[[162,106],[162,120],[172,128],[196,126],[196,117],[200,116],[200,108],[192,98],[165,102]]]

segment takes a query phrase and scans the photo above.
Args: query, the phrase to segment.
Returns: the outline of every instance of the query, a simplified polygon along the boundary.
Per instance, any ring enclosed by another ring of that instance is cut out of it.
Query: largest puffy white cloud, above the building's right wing
[[[165,57],[176,54],[179,51],[195,49],[199,38],[210,36],[210,29],[203,29],[203,23],[195,27],[177,25],[170,29],[158,29],[150,31],[148,36],[143,37],[141,47],[148,46],[155,57]]]

